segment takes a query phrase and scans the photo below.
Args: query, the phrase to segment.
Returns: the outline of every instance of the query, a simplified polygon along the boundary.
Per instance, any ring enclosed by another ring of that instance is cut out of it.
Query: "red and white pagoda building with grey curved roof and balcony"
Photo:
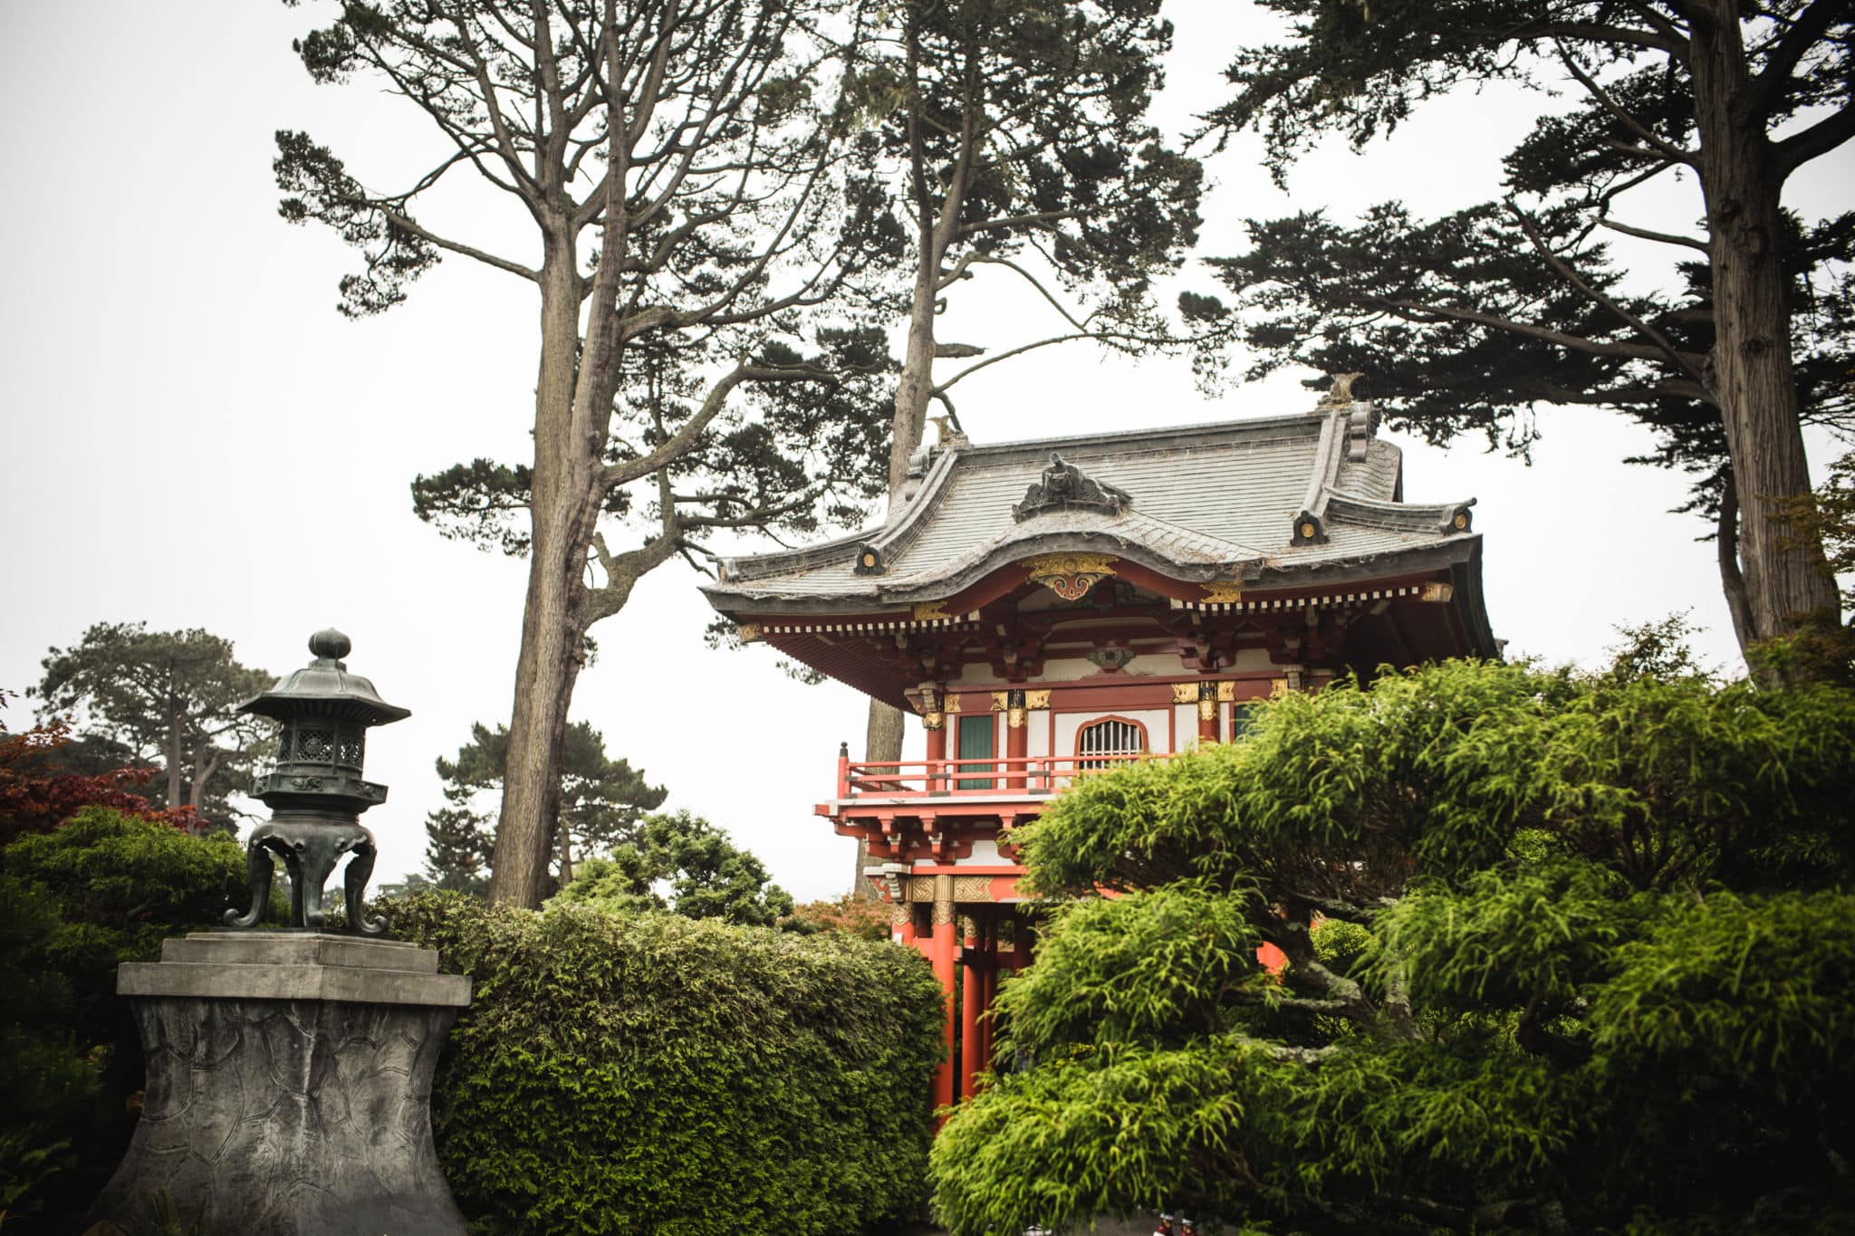
[[[720,563],[705,591],[742,639],[926,730],[924,760],[840,747],[816,813],[864,843],[894,938],[950,995],[937,1103],[970,1093],[998,971],[1028,962],[1011,832],[1052,793],[1230,739],[1258,700],[1349,671],[1497,656],[1473,502],[1406,502],[1376,430],[1341,380],[1289,417],[942,434],[881,526]]]

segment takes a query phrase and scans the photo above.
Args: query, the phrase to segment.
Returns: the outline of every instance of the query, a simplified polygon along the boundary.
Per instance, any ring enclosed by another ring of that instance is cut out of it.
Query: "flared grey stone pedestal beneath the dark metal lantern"
[[[406,943],[202,932],[117,969],[148,1058],[128,1156],[93,1219],[167,1190],[241,1236],[464,1236],[432,1151],[432,1069],[469,978]]]

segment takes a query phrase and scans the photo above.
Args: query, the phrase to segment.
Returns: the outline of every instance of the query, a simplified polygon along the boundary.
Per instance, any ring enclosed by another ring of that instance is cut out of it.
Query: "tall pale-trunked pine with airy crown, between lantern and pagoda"
[[[416,491],[466,536],[514,517],[497,541],[529,560],[492,895],[534,906],[588,630],[707,532],[803,528],[881,487],[857,458],[879,400],[855,389],[881,337],[825,321],[889,243],[846,141],[866,0],[334,7],[297,43],[310,76],[365,80],[440,143],[395,146],[403,187],[378,189],[308,133],[276,135],[282,215],[362,250],[341,311],[399,304],[441,258],[538,309],[532,460]],[[434,193],[510,198],[527,243],[434,226]],[[814,397],[783,417],[746,397],[774,384]]]

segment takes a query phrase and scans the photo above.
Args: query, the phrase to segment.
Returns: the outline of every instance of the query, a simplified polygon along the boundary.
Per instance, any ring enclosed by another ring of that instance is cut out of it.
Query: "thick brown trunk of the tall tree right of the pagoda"
[[[1775,504],[1810,493],[1790,308],[1777,246],[1779,189],[1733,0],[1694,22],[1690,59],[1714,282],[1712,385],[1725,419],[1740,506],[1740,563],[1757,639],[1785,636],[1831,610],[1836,589],[1822,545],[1796,537]]]

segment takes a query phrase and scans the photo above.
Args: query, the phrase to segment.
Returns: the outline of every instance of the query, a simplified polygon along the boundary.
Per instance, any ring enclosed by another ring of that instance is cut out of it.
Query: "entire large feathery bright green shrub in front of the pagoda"
[[[946,1123],[942,1221],[1842,1230],[1855,693],[1664,636],[1289,697],[1065,791],[1022,854],[1074,899],[1000,991],[1028,1069]]]

